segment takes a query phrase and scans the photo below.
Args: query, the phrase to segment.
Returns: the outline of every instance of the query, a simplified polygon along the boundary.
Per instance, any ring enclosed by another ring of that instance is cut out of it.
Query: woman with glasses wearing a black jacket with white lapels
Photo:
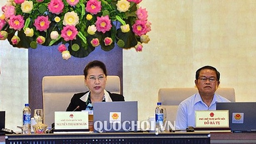
[[[66,111],[93,110],[95,102],[124,101],[124,96],[105,90],[107,69],[101,61],[91,61],[84,69],[85,84],[89,91],[76,93]]]

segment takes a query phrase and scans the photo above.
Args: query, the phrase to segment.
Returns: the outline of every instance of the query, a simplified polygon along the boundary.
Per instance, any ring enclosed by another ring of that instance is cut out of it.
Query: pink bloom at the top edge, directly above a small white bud
[[[48,9],[54,14],[60,14],[64,8],[62,0],[51,0],[48,4]]]

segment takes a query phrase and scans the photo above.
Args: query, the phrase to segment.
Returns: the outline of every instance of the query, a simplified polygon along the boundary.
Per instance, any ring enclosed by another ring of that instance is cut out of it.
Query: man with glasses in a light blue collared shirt
[[[175,129],[195,127],[196,110],[216,110],[216,103],[230,102],[215,93],[219,86],[220,73],[212,66],[204,66],[196,71],[196,88],[198,93],[191,95],[179,104]]]

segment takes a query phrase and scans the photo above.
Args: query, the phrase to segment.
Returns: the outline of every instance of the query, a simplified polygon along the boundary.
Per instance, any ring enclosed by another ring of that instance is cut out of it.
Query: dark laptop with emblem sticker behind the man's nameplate
[[[216,110],[229,110],[232,132],[256,132],[256,102],[216,103]]]

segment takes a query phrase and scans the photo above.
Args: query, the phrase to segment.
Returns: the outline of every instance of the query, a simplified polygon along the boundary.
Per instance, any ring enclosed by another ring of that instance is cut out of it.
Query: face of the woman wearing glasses
[[[101,68],[93,67],[88,69],[88,74],[85,78],[85,84],[91,91],[91,94],[102,94],[106,87],[106,76]]]

